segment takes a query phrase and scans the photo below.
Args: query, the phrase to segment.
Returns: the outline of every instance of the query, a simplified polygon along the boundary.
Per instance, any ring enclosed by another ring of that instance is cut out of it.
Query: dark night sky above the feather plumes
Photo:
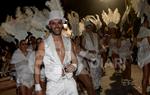
[[[77,11],[80,17],[87,14],[100,14],[108,7],[119,8],[122,13],[125,9],[124,0],[111,0],[111,3],[102,3],[99,0],[61,0],[66,11]],[[85,2],[86,1],[86,2]],[[46,0],[3,0],[0,3],[0,23],[5,21],[6,15],[14,15],[17,6],[36,6],[39,9],[45,7]]]

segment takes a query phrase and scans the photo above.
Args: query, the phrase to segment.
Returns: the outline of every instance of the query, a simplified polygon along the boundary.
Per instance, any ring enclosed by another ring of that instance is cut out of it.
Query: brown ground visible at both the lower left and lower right
[[[141,95],[142,71],[137,65],[132,64],[133,83],[126,87],[121,85],[121,77],[114,77],[111,65],[107,65],[105,71],[105,76],[101,79],[100,95]],[[10,77],[0,78],[0,95],[16,95],[16,84]]]

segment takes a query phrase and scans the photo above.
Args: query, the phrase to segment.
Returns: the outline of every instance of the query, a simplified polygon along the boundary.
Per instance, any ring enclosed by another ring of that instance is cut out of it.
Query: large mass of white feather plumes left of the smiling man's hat
[[[27,10],[26,13],[19,13],[16,19],[7,19],[2,23],[6,32],[14,35],[19,41],[28,35],[27,32],[31,32],[35,37],[41,37],[45,34],[43,31],[47,18],[43,12],[35,7],[26,7],[25,9]],[[34,11],[32,15],[30,15],[31,10]]]

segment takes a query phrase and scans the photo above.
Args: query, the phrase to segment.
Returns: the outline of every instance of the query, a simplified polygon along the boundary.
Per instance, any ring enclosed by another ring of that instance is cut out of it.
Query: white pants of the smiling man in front
[[[73,78],[48,81],[46,95],[78,95],[76,82]]]

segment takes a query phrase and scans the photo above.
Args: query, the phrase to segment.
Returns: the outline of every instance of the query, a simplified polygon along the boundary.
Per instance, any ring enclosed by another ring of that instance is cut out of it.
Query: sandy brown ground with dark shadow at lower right
[[[121,77],[114,76],[113,66],[107,66],[105,76],[101,79],[102,92],[100,95],[141,95],[142,70],[132,64],[132,85],[122,86]]]

